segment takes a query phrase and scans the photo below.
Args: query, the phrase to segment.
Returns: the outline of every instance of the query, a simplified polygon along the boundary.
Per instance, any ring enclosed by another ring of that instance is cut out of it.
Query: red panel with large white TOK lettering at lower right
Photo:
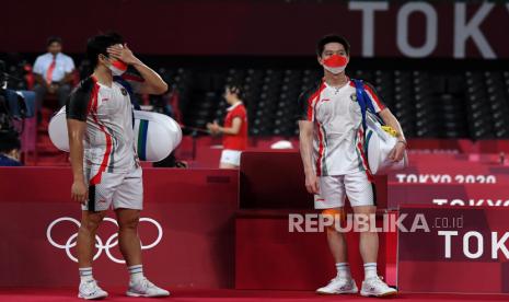
[[[403,216],[400,290],[509,293],[509,210],[404,207]]]

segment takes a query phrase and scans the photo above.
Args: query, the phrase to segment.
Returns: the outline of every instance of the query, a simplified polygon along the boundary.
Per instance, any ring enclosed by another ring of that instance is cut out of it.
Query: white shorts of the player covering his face
[[[103,172],[101,183],[89,186],[89,201],[82,210],[104,211],[114,209],[143,208],[143,178],[141,167],[134,167],[128,173]]]

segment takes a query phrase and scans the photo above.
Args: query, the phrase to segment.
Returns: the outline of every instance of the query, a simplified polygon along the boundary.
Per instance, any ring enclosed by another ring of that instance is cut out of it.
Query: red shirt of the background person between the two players
[[[224,149],[243,151],[247,148],[247,113],[242,102],[236,103],[228,108],[227,117],[224,118],[224,128],[230,128],[233,125],[233,118],[242,119],[241,130],[238,135],[224,135],[222,144]]]

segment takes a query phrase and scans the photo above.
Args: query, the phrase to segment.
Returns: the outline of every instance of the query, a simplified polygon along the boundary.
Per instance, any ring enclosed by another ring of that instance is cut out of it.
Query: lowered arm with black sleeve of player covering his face
[[[91,100],[92,88],[83,84],[69,96],[66,104],[67,130],[69,136],[69,151],[72,166],[73,183],[71,198],[85,204],[89,198],[88,185],[83,173],[83,138],[86,131],[86,115]]]

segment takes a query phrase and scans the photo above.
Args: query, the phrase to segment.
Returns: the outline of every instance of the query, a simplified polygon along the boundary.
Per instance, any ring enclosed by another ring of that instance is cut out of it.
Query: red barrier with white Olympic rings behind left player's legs
[[[147,276],[164,287],[232,288],[238,175],[219,170],[143,171],[140,237]],[[0,169],[0,287],[78,286],[79,205],[69,169]],[[196,189],[199,188],[199,189]],[[126,286],[113,212],[95,240],[94,277]]]

